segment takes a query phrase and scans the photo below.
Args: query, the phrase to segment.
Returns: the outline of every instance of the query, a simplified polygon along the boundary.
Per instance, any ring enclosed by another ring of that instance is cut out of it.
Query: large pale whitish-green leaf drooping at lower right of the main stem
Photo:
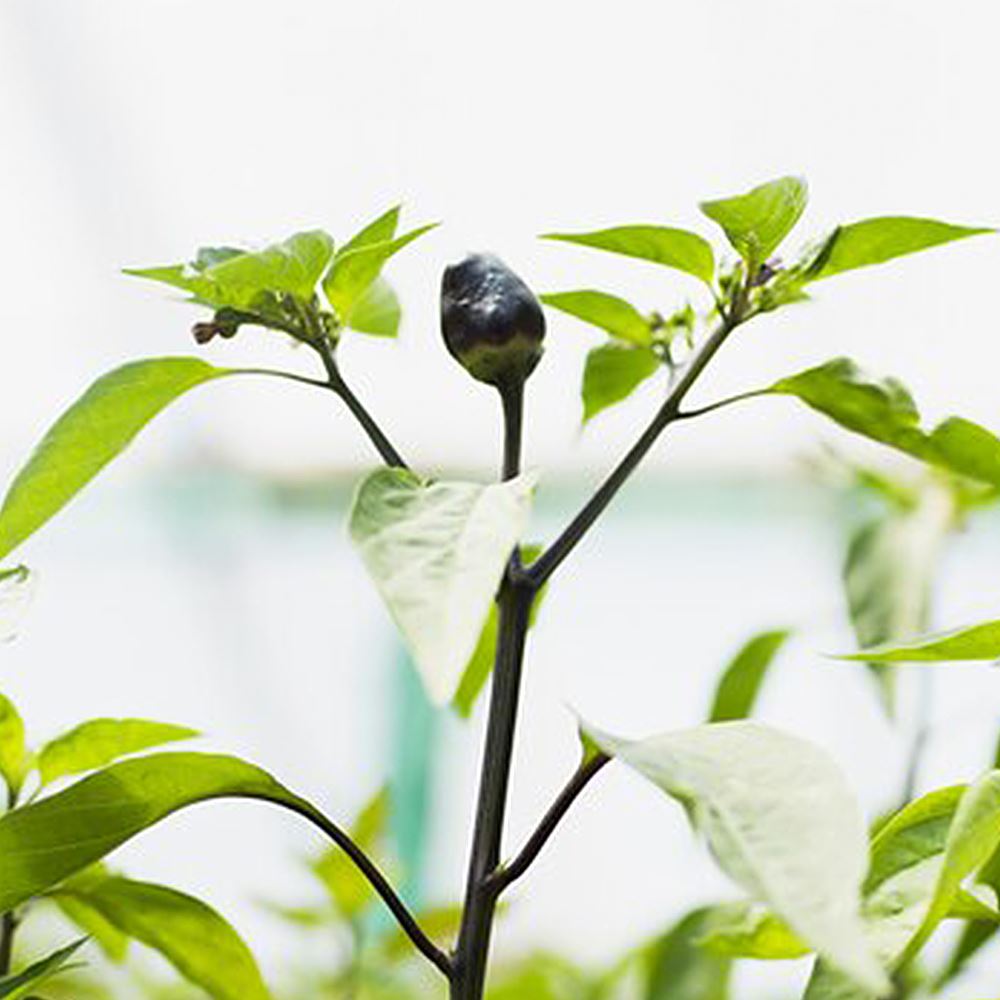
[[[861,922],[865,826],[823,751],[752,722],[638,742],[591,735],[684,804],[721,867],[752,899],[854,981],[889,992]]]

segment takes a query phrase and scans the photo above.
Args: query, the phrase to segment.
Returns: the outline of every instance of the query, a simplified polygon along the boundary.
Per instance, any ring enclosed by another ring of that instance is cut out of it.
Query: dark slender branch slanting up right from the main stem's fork
[[[684,374],[670,391],[663,405],[657,411],[649,426],[642,432],[638,441],[629,449],[625,457],[618,463],[607,479],[598,487],[597,492],[587,501],[576,517],[569,523],[563,533],[542,553],[542,555],[527,570],[536,586],[541,586],[555,572],[559,564],[573,551],[580,539],[587,533],[591,525],[600,517],[604,509],[614,499],[629,476],[639,463],[646,457],[650,448],[664,429],[675,420],[680,419],[680,406],[698,377],[715,357],[719,348],[726,342],[729,335],[744,319],[746,294],[741,291],[737,295],[726,318],[705,341],[702,349],[692,358]]]

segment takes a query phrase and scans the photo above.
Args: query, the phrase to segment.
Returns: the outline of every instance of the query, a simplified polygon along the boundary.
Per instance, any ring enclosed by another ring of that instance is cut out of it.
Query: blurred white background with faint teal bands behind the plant
[[[444,225],[389,266],[399,341],[348,336],[345,374],[418,468],[492,475],[493,394],[438,339],[447,262],[488,249],[539,291],[594,285],[644,309],[704,309],[684,275],[536,236],[650,222],[715,238],[700,199],[784,173],[811,185],[800,240],[879,214],[997,225],[998,33],[990,0],[944,12],[919,0],[0,0],[0,479],[101,372],[194,353],[197,310],[122,267],[304,228],[343,239],[398,201],[406,221]],[[707,401],[847,354],[901,377],[928,418],[954,410],[995,429],[998,268],[1000,244],[970,240],[824,282],[814,302],[747,328],[699,391]],[[550,317],[526,440],[541,540],[661,391],[581,431],[580,373],[599,341]],[[219,363],[309,371],[274,335],[216,344],[203,353]],[[511,849],[574,765],[574,712],[635,735],[695,724],[727,658],[767,628],[795,635],[761,717],[829,748],[870,815],[895,801],[906,713],[890,726],[864,670],[821,655],[853,644],[840,572],[858,519],[807,468],[824,441],[901,467],[790,401],[757,401],[679,427],[581,546],[531,647]],[[36,595],[0,649],[0,685],[36,738],[94,715],[189,724],[335,816],[388,780],[405,803],[395,833],[410,892],[448,901],[483,706],[469,724],[427,709],[347,544],[351,488],[374,464],[325,394],[234,380],[186,398],[18,553]],[[949,546],[938,624],[1000,612],[998,529],[983,514]],[[989,763],[998,684],[989,668],[940,669],[920,788]],[[258,902],[314,892],[301,858],[315,847],[281,816],[223,805],[176,817],[116,862],[211,900],[273,972],[300,945]],[[727,895],[681,810],[615,770],[513,894],[498,948],[609,961]],[[742,995],[781,995],[806,972],[741,968]],[[984,958],[965,994],[998,975]]]

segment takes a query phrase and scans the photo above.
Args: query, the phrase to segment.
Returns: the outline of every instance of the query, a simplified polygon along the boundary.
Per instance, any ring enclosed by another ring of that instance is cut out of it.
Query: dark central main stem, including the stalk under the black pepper
[[[523,384],[502,388],[501,398],[504,411],[503,476],[504,479],[511,479],[519,473],[521,464]],[[516,552],[511,556],[511,567],[520,569]],[[452,959],[452,1000],[481,1000],[486,984],[493,919],[499,895],[491,876],[500,864],[521,692],[521,667],[535,593],[535,587],[522,574],[508,573],[497,599],[500,620],[493,690],[486,725],[465,907]]]

